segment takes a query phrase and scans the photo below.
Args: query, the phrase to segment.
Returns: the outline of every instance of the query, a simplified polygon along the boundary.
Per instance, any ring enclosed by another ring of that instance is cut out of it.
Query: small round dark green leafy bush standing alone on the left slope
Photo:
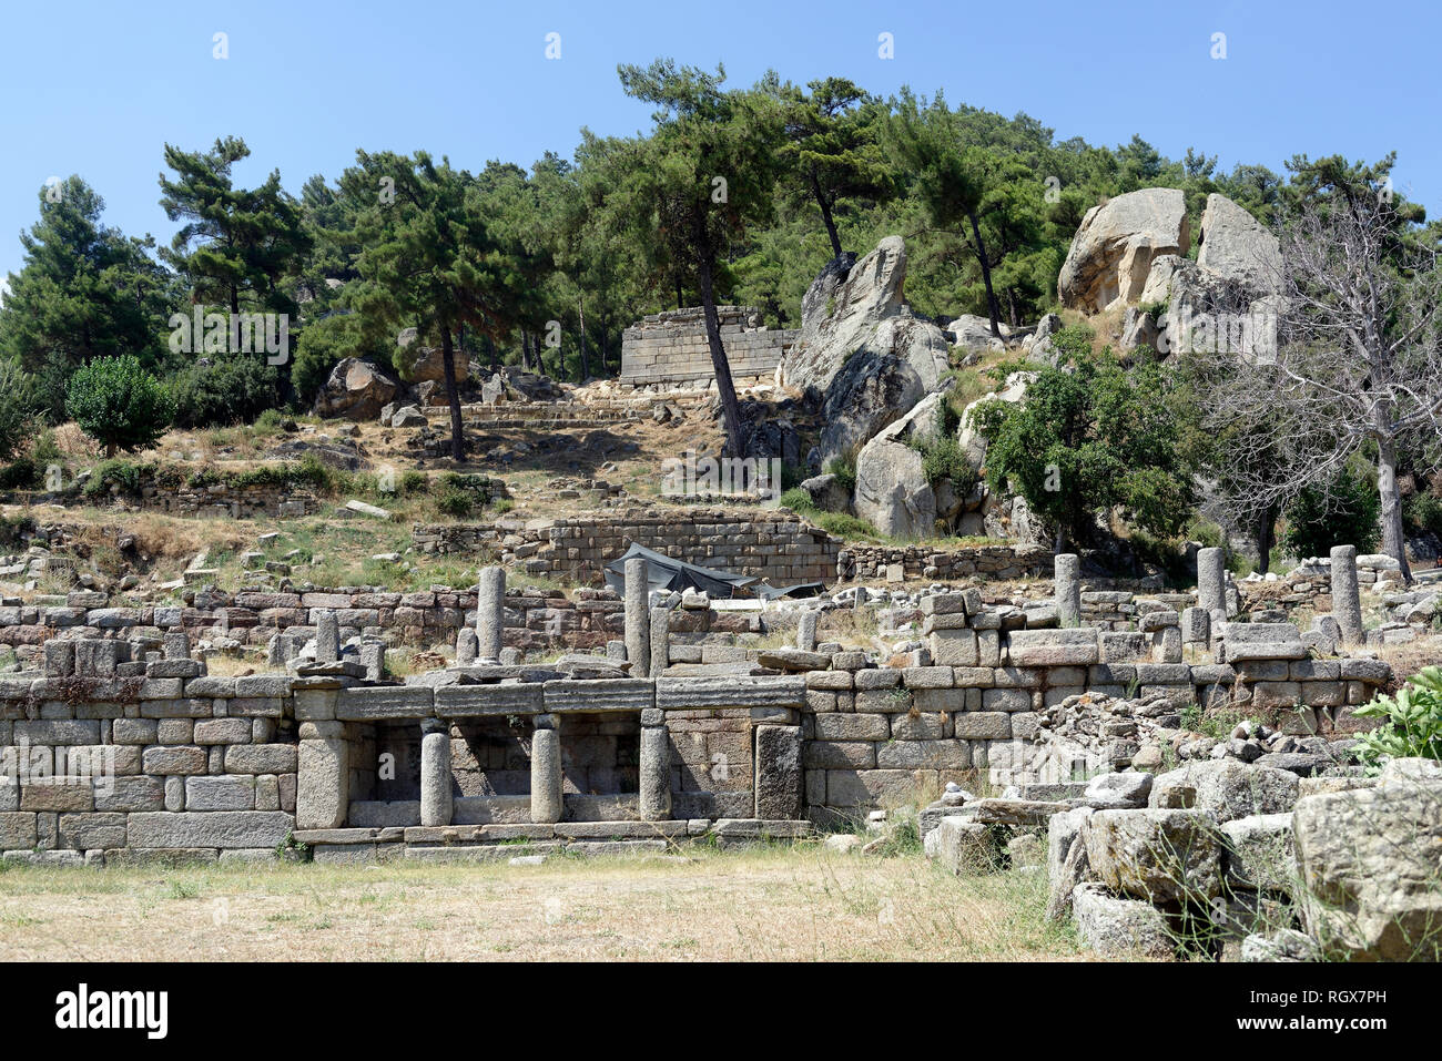
[[[114,457],[117,450],[134,453],[160,441],[176,404],[137,358],[121,355],[78,368],[65,389],[65,411]]]

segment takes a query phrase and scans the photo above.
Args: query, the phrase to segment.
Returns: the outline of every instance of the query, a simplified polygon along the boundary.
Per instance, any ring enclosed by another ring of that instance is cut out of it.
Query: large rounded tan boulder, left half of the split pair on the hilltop
[[[1136,304],[1152,261],[1191,247],[1187,197],[1175,187],[1144,187],[1093,206],[1071,238],[1057,277],[1061,304],[1099,313]]]

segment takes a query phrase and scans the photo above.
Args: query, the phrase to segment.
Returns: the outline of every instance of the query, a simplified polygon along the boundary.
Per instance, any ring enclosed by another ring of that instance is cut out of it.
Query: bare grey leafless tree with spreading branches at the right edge
[[[1269,440],[1266,460],[1244,447],[1224,457],[1231,506],[1275,510],[1306,489],[1331,500],[1338,474],[1364,458],[1376,469],[1383,549],[1407,582],[1399,451],[1435,460],[1442,438],[1442,267],[1436,244],[1416,236],[1384,195],[1301,206],[1268,284],[1275,343],[1204,355],[1208,427]]]

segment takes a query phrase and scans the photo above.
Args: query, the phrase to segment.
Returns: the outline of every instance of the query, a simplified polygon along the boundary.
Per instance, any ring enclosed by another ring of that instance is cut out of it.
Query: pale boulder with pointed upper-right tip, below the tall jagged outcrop
[[[884,535],[930,538],[936,533],[936,493],[913,443],[934,437],[936,411],[943,401],[943,394],[927,395],[901,419],[883,428],[857,457],[854,507]]]

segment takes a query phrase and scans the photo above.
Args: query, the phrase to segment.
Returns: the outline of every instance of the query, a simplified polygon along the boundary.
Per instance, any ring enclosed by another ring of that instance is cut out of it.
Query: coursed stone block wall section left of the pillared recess
[[[128,647],[50,642],[43,675],[0,680],[6,858],[274,858],[297,800],[291,679]]]

